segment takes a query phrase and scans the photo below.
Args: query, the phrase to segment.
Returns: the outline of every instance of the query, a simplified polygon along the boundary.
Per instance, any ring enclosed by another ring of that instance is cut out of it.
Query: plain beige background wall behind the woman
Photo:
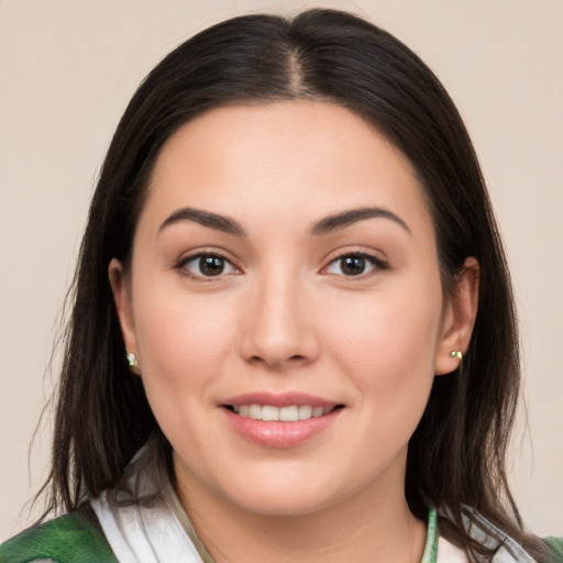
[[[19,512],[44,476],[48,417],[31,476],[27,449],[55,320],[128,99],[208,24],[313,5],[397,34],[466,119],[521,311],[531,430],[515,442],[511,481],[530,527],[563,534],[563,0],[0,0],[0,540],[25,523]]]

